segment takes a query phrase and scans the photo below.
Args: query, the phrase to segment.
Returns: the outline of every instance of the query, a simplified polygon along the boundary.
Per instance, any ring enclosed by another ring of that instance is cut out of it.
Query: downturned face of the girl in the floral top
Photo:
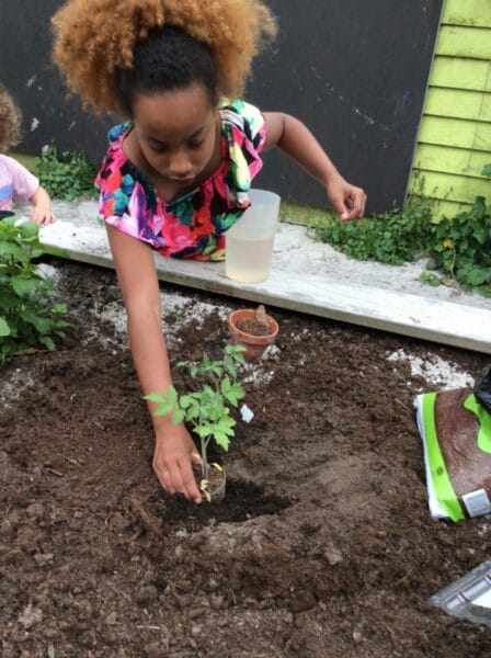
[[[133,122],[148,164],[178,186],[192,184],[214,155],[217,112],[202,84],[137,95]]]

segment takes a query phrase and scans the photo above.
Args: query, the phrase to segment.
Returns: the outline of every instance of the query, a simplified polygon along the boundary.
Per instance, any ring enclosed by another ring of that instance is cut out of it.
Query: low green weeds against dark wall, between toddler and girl
[[[81,154],[65,151],[60,156],[52,145],[36,158],[35,173],[53,198],[75,201],[95,195],[98,168]]]

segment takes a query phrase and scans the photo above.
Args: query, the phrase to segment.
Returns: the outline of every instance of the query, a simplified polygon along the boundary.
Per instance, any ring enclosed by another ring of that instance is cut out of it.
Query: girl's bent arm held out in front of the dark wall
[[[363,217],[365,192],[343,179],[305,124],[282,112],[265,112],[264,120],[267,128],[264,148],[277,146],[324,185],[341,219]]]

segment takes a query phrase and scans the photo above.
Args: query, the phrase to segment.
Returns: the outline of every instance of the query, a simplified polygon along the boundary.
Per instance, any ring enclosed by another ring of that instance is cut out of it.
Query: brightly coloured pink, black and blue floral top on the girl
[[[250,206],[248,191],[262,168],[259,154],[266,129],[261,112],[243,101],[224,101],[219,113],[220,168],[198,188],[169,203],[123,151],[133,124],[112,128],[95,179],[101,217],[165,257],[224,260],[225,231]]]

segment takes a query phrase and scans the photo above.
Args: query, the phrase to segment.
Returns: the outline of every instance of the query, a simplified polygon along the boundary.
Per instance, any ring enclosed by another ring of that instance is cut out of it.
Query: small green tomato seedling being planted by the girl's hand
[[[227,345],[224,358],[213,361],[204,354],[201,362],[182,361],[178,367],[184,367],[194,382],[192,390],[179,394],[169,386],[165,394],[150,393],[145,399],[157,402],[156,416],[172,413],[174,424],[184,422],[199,439],[203,461],[203,477],[208,479],[208,445],[212,439],[225,452],[235,436],[237,421],[230,409],[237,407],[244,397],[242,385],[237,381],[239,364],[244,364],[244,349],[240,345]]]

